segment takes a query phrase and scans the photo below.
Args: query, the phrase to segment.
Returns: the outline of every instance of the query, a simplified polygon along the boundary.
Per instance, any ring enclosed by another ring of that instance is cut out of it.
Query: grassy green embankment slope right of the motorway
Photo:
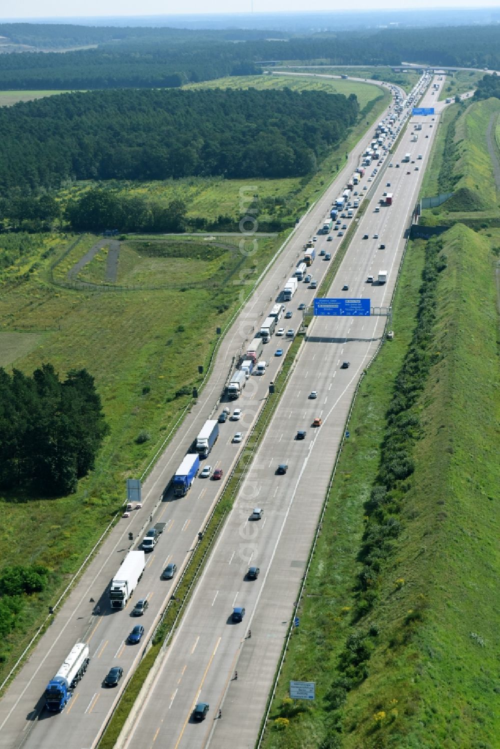
[[[358,395],[268,747],[498,746],[499,320],[490,243],[463,225],[443,237],[430,371],[414,410],[415,470],[388,506],[400,530],[370,606],[353,593],[367,512],[374,531],[365,503],[379,470],[375,446],[386,439],[423,252],[412,243],[395,304],[397,339]],[[315,679],[316,703],[289,703],[289,679]]]

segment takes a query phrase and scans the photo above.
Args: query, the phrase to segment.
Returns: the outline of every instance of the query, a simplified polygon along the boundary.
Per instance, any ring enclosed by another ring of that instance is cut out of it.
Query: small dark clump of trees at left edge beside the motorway
[[[51,364],[32,377],[0,369],[0,487],[37,496],[76,491],[94,467],[109,427],[94,377],[85,369],[61,382]]]

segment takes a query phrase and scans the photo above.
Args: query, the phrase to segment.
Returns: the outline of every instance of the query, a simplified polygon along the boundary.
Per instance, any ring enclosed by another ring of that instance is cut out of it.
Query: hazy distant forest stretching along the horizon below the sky
[[[1,31],[0,26],[0,31]],[[82,31],[71,31],[84,40]],[[459,67],[500,67],[494,25],[385,28],[262,39],[262,31],[116,28],[86,31],[100,36],[97,49],[0,55],[2,89],[171,87],[261,70],[262,61],[296,60],[331,65],[400,65],[401,61]],[[13,32],[10,32],[13,35]],[[33,32],[35,34],[35,32]],[[63,33],[63,32],[61,32]],[[36,34],[35,34],[36,35]],[[21,34],[17,34],[22,38]],[[256,38],[255,38],[256,37]],[[115,38],[115,37],[113,37]],[[235,44],[234,39],[241,39]],[[161,41],[160,41],[161,39]]]

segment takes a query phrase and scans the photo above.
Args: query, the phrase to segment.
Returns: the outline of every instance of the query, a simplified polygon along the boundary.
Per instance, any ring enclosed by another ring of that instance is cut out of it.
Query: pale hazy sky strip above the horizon
[[[499,0],[480,0],[479,7],[499,7]],[[0,19],[66,16],[160,16],[175,13],[248,13],[251,0],[17,0],[1,3]],[[471,0],[382,0],[380,9],[409,10],[421,7],[475,7]],[[253,0],[253,10],[308,11],[374,10],[373,0]]]

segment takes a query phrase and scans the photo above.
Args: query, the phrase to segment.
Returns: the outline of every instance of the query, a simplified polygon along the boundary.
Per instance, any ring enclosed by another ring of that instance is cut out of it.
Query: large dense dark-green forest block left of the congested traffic
[[[307,175],[358,118],[352,94],[88,91],[0,109],[0,190],[67,180]]]

